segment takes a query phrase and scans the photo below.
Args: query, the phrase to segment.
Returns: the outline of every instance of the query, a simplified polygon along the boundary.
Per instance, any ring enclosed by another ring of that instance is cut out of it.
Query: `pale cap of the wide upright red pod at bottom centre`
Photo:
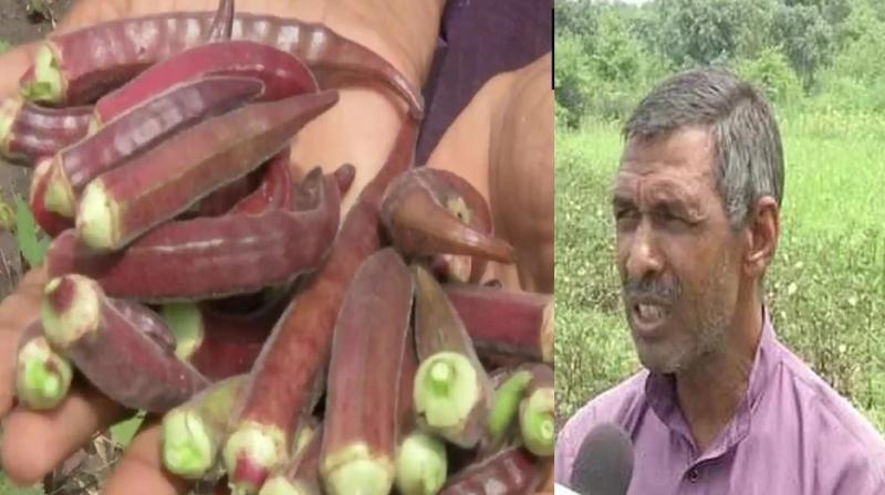
[[[396,468],[392,460],[373,456],[365,443],[357,443],[326,455],[322,473],[330,495],[386,495]]]

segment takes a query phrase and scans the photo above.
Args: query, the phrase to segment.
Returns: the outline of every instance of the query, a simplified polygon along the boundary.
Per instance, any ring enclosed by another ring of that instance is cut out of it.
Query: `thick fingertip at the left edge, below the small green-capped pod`
[[[31,485],[88,442],[124,419],[126,411],[101,393],[82,388],[50,411],[15,408],[3,422],[0,463],[15,484]]]

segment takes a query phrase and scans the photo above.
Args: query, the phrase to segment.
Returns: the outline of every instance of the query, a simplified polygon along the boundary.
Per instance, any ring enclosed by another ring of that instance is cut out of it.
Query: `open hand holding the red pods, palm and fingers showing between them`
[[[237,11],[322,22],[391,62],[420,87],[429,69],[442,1],[309,1],[240,0]],[[211,11],[216,0],[81,0],[59,24],[71,31],[114,19],[167,11]],[[32,63],[38,43],[19,46],[0,56],[0,96],[18,89],[20,75]],[[321,165],[332,171],[341,164],[357,168],[343,208],[384,162],[403,118],[403,112],[383,95],[364,88],[342,89],[335,107],[310,123],[292,147],[295,176]],[[15,293],[0,303],[0,417],[4,438],[0,445],[3,471],[17,484],[33,484],[84,445],[96,432],[124,419],[131,411],[93,388],[74,383],[52,411],[37,412],[13,404],[15,348],[24,328],[39,317],[45,284],[42,270],[31,271]],[[184,494],[190,484],[169,474],[159,459],[159,424],[146,421],[128,445],[103,493]]]

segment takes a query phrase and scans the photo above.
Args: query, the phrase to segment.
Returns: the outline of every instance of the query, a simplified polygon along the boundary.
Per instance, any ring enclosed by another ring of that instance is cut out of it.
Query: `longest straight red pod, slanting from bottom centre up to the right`
[[[254,493],[285,462],[296,418],[309,406],[332,347],[335,320],[356,271],[381,247],[378,207],[395,177],[414,165],[417,124],[407,120],[378,173],[360,193],[332,251],[292,298],[252,369],[253,380],[225,445],[231,484]]]

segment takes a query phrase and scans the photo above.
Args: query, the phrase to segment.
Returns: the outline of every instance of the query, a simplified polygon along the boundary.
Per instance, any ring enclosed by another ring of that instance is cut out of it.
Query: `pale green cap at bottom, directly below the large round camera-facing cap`
[[[396,455],[396,488],[402,495],[434,495],[448,474],[446,445],[436,436],[416,431]]]

